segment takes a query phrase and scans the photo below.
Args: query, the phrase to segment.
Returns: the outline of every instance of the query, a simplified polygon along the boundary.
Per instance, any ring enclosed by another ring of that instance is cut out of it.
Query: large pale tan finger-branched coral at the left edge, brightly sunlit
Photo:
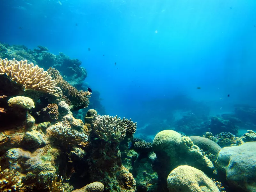
[[[12,81],[22,84],[25,90],[32,89],[39,92],[54,94],[61,98],[62,92],[52,80],[50,74],[27,60],[17,61],[0,59],[0,75],[7,75]]]

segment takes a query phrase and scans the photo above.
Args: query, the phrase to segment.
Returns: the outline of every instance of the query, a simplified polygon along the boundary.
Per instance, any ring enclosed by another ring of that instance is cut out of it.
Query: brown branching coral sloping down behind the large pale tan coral
[[[67,101],[71,104],[69,106],[71,110],[79,110],[88,107],[91,94],[89,91],[78,91],[75,87],[65,81],[60,75],[60,72],[55,68],[50,67],[47,71],[52,74],[54,81],[61,88],[63,94],[68,98]]]

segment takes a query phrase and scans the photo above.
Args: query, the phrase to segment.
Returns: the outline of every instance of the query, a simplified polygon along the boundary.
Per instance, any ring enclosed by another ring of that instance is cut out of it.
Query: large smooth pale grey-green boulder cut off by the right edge
[[[230,191],[256,191],[256,142],[222,148],[216,160],[218,173],[226,175]]]

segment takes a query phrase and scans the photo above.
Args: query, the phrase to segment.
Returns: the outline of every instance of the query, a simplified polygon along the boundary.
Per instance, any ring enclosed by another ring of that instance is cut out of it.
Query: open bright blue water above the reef
[[[254,0],[1,0],[0,5],[0,42],[43,45],[81,60],[85,81],[100,92],[108,115],[132,118],[138,127],[200,102],[212,115],[230,113],[234,104],[255,105]]]

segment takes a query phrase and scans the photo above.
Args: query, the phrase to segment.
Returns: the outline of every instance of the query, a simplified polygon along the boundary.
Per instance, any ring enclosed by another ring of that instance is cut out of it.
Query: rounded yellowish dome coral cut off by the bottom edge
[[[220,192],[204,172],[188,165],[172,170],[167,178],[167,187],[170,192]]]

